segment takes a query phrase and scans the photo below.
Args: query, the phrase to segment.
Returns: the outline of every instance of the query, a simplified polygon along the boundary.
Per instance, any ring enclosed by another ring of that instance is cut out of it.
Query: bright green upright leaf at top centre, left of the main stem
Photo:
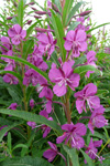
[[[61,18],[57,14],[55,14],[53,10],[51,10],[51,12],[52,12],[52,24],[53,24],[53,29],[55,31],[55,35],[57,39],[57,44],[59,46],[59,52],[61,52],[63,62],[65,62],[66,50],[64,49],[65,41],[63,38],[65,37],[65,33],[64,33],[63,24],[62,24]]]

